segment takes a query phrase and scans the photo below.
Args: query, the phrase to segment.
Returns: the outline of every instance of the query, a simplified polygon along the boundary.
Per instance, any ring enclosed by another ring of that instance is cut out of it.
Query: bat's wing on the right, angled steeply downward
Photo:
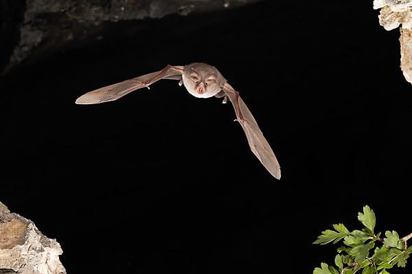
[[[225,83],[222,90],[233,104],[237,121],[242,125],[252,152],[258,157],[260,162],[262,162],[264,167],[273,175],[273,177],[280,179],[280,166],[279,162],[277,162],[275,153],[273,153],[271,146],[268,144],[266,138],[264,138],[258,123],[256,123],[249,108],[247,108],[247,105],[242,98],[240,98],[239,92],[234,90],[227,83]]]

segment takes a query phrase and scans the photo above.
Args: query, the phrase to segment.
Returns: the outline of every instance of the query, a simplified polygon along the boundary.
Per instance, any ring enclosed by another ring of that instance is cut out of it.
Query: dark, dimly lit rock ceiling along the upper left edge
[[[236,8],[259,0],[0,0],[0,71],[56,51],[150,27],[145,18]],[[113,26],[119,22],[128,25]],[[3,69],[2,69],[3,68]]]

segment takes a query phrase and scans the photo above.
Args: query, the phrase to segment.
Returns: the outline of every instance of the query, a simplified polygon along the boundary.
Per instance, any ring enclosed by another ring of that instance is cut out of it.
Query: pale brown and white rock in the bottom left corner
[[[58,256],[62,249],[36,225],[0,202],[0,273],[66,273]]]

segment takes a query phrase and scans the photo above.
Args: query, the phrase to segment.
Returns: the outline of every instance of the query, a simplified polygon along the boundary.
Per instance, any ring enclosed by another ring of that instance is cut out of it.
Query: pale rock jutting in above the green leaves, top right
[[[412,0],[374,0],[374,8],[381,9],[379,23],[385,29],[400,29],[400,68],[412,84]]]

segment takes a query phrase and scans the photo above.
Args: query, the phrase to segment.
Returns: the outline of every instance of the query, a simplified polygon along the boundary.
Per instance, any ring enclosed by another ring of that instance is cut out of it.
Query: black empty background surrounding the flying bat
[[[412,232],[412,87],[399,31],[379,25],[371,1],[263,1],[146,23],[2,79],[0,200],[60,242],[68,273],[312,273],[334,258],[312,242],[332,223],[360,228],[366,204],[378,231]],[[176,82],[74,104],[190,62],[240,90],[280,181],[231,105]]]

